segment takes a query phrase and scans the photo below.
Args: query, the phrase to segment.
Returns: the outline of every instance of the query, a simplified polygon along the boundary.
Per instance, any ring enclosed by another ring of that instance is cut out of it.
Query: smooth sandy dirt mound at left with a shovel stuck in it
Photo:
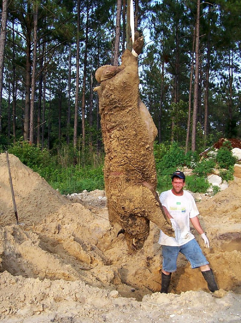
[[[25,166],[16,156],[9,155],[10,171],[14,187],[19,222],[41,222],[66,203],[37,173]],[[0,225],[16,223],[5,153],[0,154]]]

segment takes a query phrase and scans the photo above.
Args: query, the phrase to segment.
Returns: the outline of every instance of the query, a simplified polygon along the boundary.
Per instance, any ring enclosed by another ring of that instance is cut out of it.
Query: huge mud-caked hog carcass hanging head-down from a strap
[[[134,48],[134,46],[133,46]],[[120,67],[96,71],[102,137],[104,180],[111,224],[120,224],[128,248],[135,252],[149,234],[149,221],[174,236],[156,193],[153,142],[157,129],[139,98],[138,58],[125,50]]]

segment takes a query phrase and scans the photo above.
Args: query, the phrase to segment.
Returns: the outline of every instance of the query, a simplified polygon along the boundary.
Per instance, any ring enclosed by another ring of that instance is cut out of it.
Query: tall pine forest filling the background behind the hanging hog
[[[102,165],[95,71],[120,64],[128,1],[1,1],[2,152],[30,145],[67,167]],[[140,96],[158,129],[155,144],[199,153],[219,138],[240,139],[240,0],[133,7],[144,36]]]

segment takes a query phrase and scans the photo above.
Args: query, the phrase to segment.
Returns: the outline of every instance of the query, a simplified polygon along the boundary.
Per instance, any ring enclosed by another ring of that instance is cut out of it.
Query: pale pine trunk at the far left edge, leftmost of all
[[[4,54],[5,54],[5,45],[6,45],[7,7],[8,7],[8,0],[3,0],[1,33],[0,33],[0,133],[2,132],[2,94],[3,94]]]

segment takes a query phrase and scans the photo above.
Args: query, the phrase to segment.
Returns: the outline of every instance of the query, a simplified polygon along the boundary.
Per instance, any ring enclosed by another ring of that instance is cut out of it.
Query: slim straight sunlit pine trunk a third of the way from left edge
[[[79,17],[80,15],[80,0],[77,1],[77,39],[76,39],[76,89],[75,89],[75,116],[74,116],[74,148],[77,145],[77,128],[78,128],[78,106],[79,106]]]

